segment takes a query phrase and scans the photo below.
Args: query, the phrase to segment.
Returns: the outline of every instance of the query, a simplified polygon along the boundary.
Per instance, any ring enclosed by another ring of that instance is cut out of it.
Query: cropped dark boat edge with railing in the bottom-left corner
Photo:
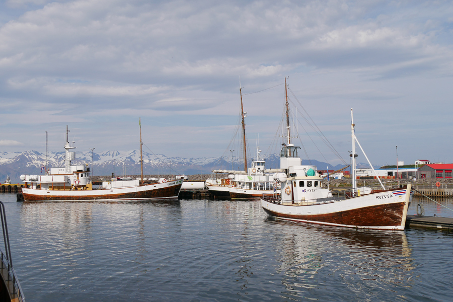
[[[2,218],[3,246],[5,247],[4,251],[0,245],[0,301],[25,302],[24,292],[13,268],[5,205],[2,201],[0,201],[0,216]]]

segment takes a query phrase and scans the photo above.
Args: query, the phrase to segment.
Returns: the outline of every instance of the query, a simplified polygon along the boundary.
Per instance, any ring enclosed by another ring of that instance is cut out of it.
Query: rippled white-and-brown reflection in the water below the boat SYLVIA
[[[310,298],[310,289],[314,289],[312,297],[317,300],[335,300],[338,294],[352,294],[354,297],[355,292],[362,295],[369,292],[368,298],[373,300],[377,297],[377,294],[373,297],[374,287],[395,287],[397,291],[411,283],[412,270],[416,266],[404,232],[354,231],[334,226],[295,224],[274,218],[266,220],[274,224],[273,227],[283,224],[284,229],[289,226],[293,231],[270,240],[275,245],[271,248],[277,251],[281,263],[276,271],[286,288],[281,292],[282,297],[299,299],[302,291]],[[336,282],[326,284],[326,280],[337,280],[341,286]],[[351,293],[334,293],[336,288],[345,290],[345,287]],[[320,288],[328,290],[321,293]]]

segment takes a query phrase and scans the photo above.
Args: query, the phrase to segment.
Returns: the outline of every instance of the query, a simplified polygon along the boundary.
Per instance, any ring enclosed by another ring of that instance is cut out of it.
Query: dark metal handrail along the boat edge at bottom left
[[[10,247],[10,237],[8,235],[8,224],[6,220],[5,205],[0,200],[0,217],[2,220],[2,230],[3,230],[3,241],[5,243],[5,251],[0,247],[0,254],[2,255],[2,269],[6,267],[8,269],[8,280],[13,281],[13,294],[17,294],[20,301],[25,302],[24,292],[22,290],[21,284],[17,278],[16,272],[13,268],[13,260],[11,257],[11,247]],[[6,281],[8,281],[6,280]]]

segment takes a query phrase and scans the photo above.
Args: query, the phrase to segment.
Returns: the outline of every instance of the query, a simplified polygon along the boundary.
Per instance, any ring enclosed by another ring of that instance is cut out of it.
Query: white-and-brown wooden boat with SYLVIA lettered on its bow
[[[333,198],[330,190],[322,188],[323,177],[317,172],[316,166],[292,165],[287,162],[290,158],[293,161],[299,148],[290,143],[288,126],[288,140],[283,144],[280,154],[280,165],[281,168],[286,168],[286,173],[274,175],[274,178],[281,183],[282,189],[280,194],[261,198],[264,211],[274,217],[307,223],[348,228],[404,230],[407,209],[412,200],[411,184],[386,189],[378,178],[382,190],[357,188],[355,141],[358,143],[358,140],[355,136],[352,109],[351,131],[352,155],[354,155],[352,189],[344,191],[338,198]],[[360,143],[358,144],[360,146]],[[371,166],[370,163],[369,165]]]

